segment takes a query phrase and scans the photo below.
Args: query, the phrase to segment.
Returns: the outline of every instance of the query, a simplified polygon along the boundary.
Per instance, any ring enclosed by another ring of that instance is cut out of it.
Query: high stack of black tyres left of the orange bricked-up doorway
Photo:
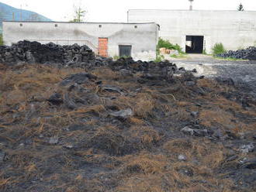
[[[95,62],[95,53],[88,46],[60,46],[54,43],[19,41],[12,46],[0,46],[0,63],[61,63],[80,66]]]

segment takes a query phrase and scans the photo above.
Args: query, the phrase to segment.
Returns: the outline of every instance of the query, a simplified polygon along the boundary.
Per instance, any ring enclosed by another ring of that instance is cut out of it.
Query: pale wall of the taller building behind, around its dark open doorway
[[[215,43],[227,50],[256,46],[256,12],[129,10],[128,22],[156,22],[160,36],[185,50],[185,36],[204,36],[204,49]]]

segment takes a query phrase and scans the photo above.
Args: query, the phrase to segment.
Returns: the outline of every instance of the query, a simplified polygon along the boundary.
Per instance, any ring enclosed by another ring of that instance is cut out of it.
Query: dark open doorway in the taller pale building
[[[185,53],[202,53],[203,36],[186,36]]]

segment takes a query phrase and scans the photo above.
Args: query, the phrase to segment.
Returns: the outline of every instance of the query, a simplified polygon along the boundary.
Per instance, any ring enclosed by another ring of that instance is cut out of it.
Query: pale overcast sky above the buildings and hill
[[[86,22],[126,22],[129,9],[189,9],[189,0],[0,0],[20,9],[40,13],[54,21],[72,19],[74,5],[87,11]],[[240,2],[244,9],[256,11],[256,0],[195,0],[194,9],[236,10]]]

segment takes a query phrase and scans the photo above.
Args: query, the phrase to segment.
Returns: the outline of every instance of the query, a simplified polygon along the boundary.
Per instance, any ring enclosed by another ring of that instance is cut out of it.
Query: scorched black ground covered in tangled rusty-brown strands
[[[103,67],[61,85],[85,70],[0,68],[1,191],[256,189],[255,152],[239,149],[254,143],[255,100],[233,86],[191,84],[189,74],[141,81]],[[133,114],[111,115],[127,108]],[[207,132],[188,135],[185,126]]]

